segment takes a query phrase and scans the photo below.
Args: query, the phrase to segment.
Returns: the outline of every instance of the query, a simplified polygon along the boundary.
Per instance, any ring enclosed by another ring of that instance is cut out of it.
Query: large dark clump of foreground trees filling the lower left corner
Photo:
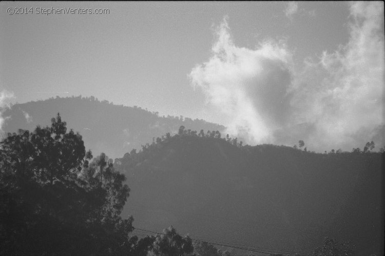
[[[127,251],[125,177],[110,160],[99,171],[98,159],[89,164],[82,136],[67,133],[59,114],[51,127],[8,134],[0,145],[1,255]]]

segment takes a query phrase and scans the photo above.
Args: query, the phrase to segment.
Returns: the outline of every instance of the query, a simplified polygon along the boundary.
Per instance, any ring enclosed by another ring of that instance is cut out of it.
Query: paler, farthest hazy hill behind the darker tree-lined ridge
[[[50,98],[14,104],[2,114],[5,132],[18,129],[33,131],[36,125],[50,125],[51,118],[60,113],[72,128],[83,136],[87,150],[94,154],[105,152],[109,157],[122,157],[132,148],[141,148],[153,137],[176,133],[179,126],[191,129],[224,130],[224,126],[204,120],[180,117],[161,117],[137,106],[114,105],[94,97]]]

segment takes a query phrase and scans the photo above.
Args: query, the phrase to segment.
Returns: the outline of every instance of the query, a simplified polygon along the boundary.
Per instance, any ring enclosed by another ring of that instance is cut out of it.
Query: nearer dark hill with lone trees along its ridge
[[[124,214],[134,227],[306,253],[329,237],[352,241],[358,255],[383,253],[385,154],[181,134],[115,161],[131,188]]]

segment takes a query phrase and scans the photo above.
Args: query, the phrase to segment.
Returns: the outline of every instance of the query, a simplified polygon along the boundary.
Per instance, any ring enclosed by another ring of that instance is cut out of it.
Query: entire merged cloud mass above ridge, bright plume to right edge
[[[333,53],[304,60],[298,70],[284,41],[237,47],[223,20],[208,61],[191,70],[194,87],[229,134],[248,143],[311,150],[351,150],[385,143],[383,5],[354,2],[350,39]]]

